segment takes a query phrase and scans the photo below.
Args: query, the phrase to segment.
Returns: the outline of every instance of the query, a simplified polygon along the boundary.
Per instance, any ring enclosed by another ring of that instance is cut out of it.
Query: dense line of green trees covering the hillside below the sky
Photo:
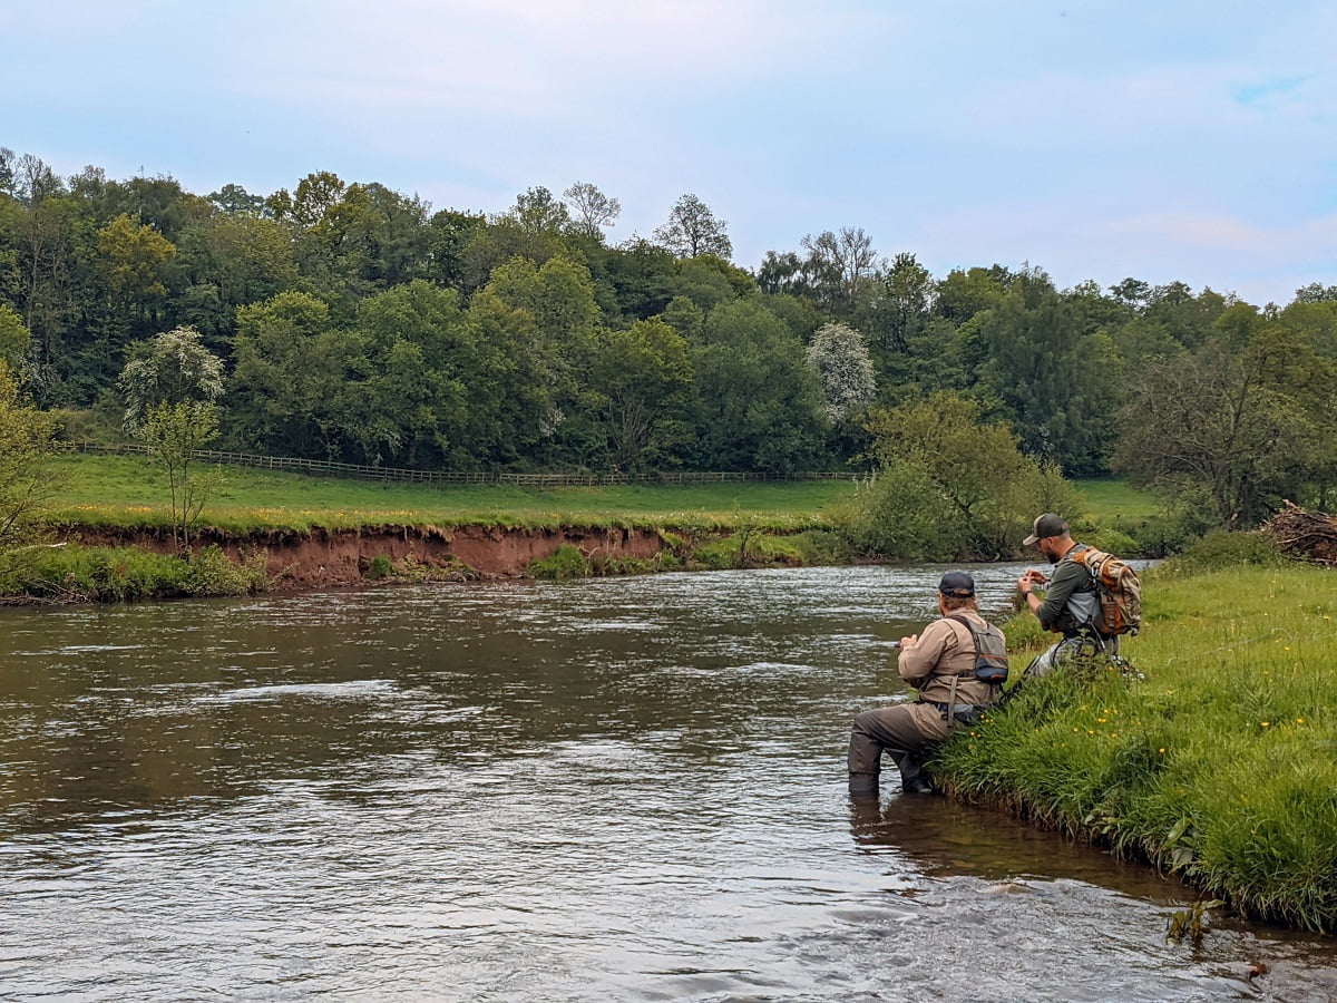
[[[915,408],[937,401],[1222,524],[1337,477],[1337,286],[1259,309],[1034,266],[935,277],[860,227],[750,270],[694,195],[612,245],[619,211],[588,182],[433,211],[328,171],[199,195],[0,148],[0,357],[67,435],[114,437],[123,373],[175,332],[219,362],[221,445],[358,464],[866,468],[909,415],[931,453]]]

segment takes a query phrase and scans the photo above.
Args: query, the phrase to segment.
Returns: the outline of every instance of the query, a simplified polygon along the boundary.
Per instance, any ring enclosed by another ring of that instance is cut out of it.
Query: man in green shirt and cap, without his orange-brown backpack
[[[1046,580],[1043,571],[1027,571],[1017,579],[1016,587],[1040,626],[1063,635],[1062,641],[1031,662],[1025,674],[1044,675],[1059,662],[1078,655],[1118,655],[1119,638],[1104,637],[1095,629],[1100,598],[1091,572],[1074,559],[1087,546],[1074,540],[1068,524],[1054,512],[1039,516],[1023,543],[1039,550],[1055,568],[1043,598],[1036,594],[1036,586]]]

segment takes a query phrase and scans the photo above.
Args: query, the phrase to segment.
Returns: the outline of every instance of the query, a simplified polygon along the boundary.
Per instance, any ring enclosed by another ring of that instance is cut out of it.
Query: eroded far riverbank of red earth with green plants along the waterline
[[[187,556],[168,530],[63,524],[0,575],[0,603],[127,602],[365,583],[580,578],[836,563],[830,534],[697,523],[362,526],[235,534],[202,527]]]

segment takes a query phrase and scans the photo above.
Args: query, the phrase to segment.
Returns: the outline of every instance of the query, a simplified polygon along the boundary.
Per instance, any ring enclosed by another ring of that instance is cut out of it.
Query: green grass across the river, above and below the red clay
[[[218,531],[233,547],[250,552],[250,564],[225,574],[217,551],[171,558],[123,546],[96,543],[110,531],[170,527],[164,476],[143,456],[66,455],[55,464],[45,522],[68,543],[59,550],[27,548],[21,559],[0,563],[0,596],[27,600],[127,600],[176,595],[265,591],[275,582],[263,575],[257,548],[277,534],[287,540],[317,531],[398,531],[439,534],[467,526],[515,531],[575,528],[635,530],[655,534],[663,544],[652,558],[599,552],[584,556],[571,547],[537,559],[529,574],[568,578],[636,574],[668,568],[766,567],[830,564],[849,560],[840,534],[832,531],[833,510],[854,484],[838,480],[734,481],[719,484],[643,484],[528,488],[519,485],[427,485],[365,481],[250,467],[199,465],[213,487],[197,528]],[[1139,518],[1152,499],[1120,481],[1084,481],[1090,502],[1082,519]],[[72,531],[60,534],[62,530]],[[255,540],[247,548],[246,539]],[[1115,535],[1106,544],[1131,552]],[[259,563],[257,563],[259,562]],[[463,572],[468,572],[464,568]],[[372,578],[417,580],[424,574],[461,574],[461,567],[396,564],[377,555]],[[513,574],[513,570],[508,571]]]

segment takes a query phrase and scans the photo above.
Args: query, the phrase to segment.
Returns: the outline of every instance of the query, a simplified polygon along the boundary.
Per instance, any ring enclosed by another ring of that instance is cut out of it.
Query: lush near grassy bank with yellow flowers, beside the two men
[[[940,762],[959,794],[1146,859],[1239,911],[1337,929],[1337,572],[1175,571],[1110,670],[1028,682]],[[1019,675],[1044,638],[1008,631]]]

